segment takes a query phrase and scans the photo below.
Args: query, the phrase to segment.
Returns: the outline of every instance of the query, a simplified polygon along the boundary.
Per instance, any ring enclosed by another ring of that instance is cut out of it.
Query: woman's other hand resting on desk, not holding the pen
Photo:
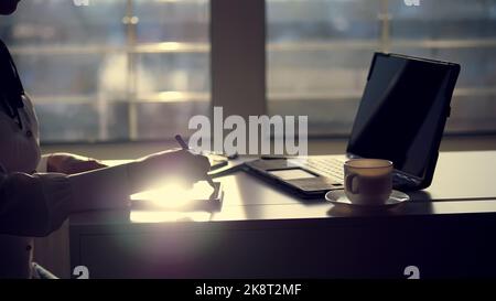
[[[107,165],[96,159],[72,153],[51,154],[46,162],[47,172],[58,172],[65,174],[75,174],[103,168],[107,168]]]

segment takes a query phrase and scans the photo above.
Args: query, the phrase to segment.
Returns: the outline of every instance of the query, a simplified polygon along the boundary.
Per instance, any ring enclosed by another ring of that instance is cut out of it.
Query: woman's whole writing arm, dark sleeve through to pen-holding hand
[[[155,153],[74,175],[7,173],[0,165],[0,234],[45,236],[71,213],[123,208],[132,193],[172,178],[193,183],[208,169],[208,159],[187,151]]]

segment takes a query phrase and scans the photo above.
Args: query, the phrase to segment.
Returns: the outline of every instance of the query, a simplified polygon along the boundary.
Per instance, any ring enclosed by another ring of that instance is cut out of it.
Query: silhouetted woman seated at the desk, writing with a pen
[[[1,0],[0,14],[13,13],[18,3]],[[69,153],[42,157],[33,105],[0,41],[0,278],[42,276],[43,269],[31,262],[31,237],[48,235],[71,213],[125,207],[129,194],[158,178],[174,175],[193,183],[208,170],[205,157],[185,150],[114,168]]]

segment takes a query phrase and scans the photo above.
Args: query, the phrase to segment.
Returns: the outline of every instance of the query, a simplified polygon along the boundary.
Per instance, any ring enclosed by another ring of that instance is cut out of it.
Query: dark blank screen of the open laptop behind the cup
[[[446,63],[377,53],[347,152],[387,159],[423,178],[444,129],[452,71]]]

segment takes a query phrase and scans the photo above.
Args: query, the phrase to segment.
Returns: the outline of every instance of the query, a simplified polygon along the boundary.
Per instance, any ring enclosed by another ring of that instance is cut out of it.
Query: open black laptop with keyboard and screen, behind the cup
[[[343,189],[352,158],[390,160],[393,189],[428,187],[435,170],[460,65],[375,53],[345,155],[259,159],[247,170],[302,197]]]

